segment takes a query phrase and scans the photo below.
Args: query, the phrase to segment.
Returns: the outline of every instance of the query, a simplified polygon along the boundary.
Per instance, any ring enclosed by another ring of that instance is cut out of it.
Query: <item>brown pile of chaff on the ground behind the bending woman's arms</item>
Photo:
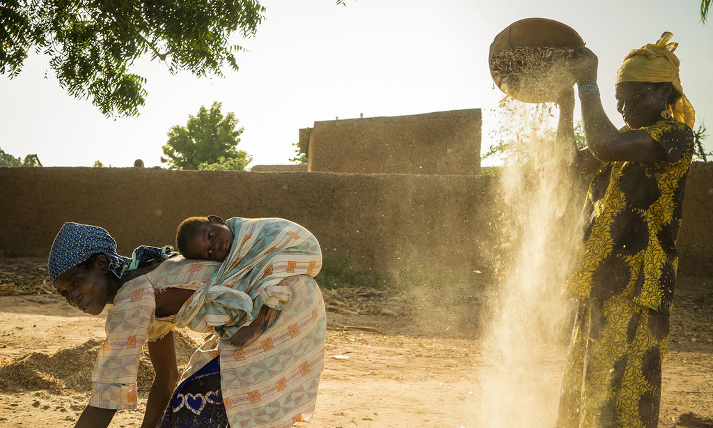
[[[179,330],[174,333],[178,370],[183,370],[198,345]],[[91,372],[96,364],[96,355],[103,339],[93,338],[81,345],[61,349],[52,355],[32,352],[0,365],[0,390],[6,393],[47,389],[60,392],[71,389],[75,392],[91,391]],[[138,366],[139,394],[148,394],[153,382],[153,365],[144,345]]]

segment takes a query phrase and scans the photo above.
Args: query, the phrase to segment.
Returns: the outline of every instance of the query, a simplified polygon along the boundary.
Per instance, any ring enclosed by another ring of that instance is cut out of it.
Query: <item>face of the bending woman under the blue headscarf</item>
[[[59,275],[54,286],[69,305],[82,312],[99,315],[116,295],[107,273],[108,260],[99,255],[91,267],[75,266]]]

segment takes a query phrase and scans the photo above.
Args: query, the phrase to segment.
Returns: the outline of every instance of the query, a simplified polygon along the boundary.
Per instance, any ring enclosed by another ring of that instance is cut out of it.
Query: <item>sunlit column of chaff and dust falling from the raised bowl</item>
[[[555,144],[553,110],[511,98],[500,106],[496,137],[508,142],[501,228],[509,236],[483,337],[490,370],[481,375],[480,414],[487,427],[553,427],[556,420],[570,328],[562,290],[575,251],[578,191],[568,166],[573,148]]]

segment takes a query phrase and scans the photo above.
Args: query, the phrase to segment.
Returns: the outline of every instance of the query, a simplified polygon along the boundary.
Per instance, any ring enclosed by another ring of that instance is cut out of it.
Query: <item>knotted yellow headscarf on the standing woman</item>
[[[681,94],[670,105],[673,118],[693,128],[696,111],[683,93],[681,78],[678,74],[680,61],[673,53],[678,44],[668,43],[672,37],[673,34],[666,31],[655,44],[647,44],[641,49],[630,51],[617,71],[616,83],[671,82],[674,89]]]

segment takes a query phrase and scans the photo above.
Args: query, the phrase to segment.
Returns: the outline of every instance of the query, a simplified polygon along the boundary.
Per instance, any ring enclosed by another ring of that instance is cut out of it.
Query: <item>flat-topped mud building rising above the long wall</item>
[[[300,130],[299,138],[310,171],[480,173],[479,108],[315,122],[313,128]]]

